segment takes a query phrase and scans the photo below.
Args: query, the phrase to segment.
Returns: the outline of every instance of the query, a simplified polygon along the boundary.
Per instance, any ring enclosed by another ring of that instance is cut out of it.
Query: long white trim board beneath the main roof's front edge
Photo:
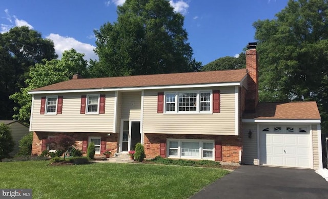
[[[50,91],[29,91],[29,94],[50,94],[50,93],[77,93],[77,92],[106,92],[106,91],[141,91],[153,89],[177,89],[177,88],[203,88],[220,86],[240,86],[240,82],[215,83],[215,84],[190,84],[173,86],[145,86],[145,87],[122,87],[122,88],[95,88],[95,89],[74,89],[74,90],[50,90]]]

